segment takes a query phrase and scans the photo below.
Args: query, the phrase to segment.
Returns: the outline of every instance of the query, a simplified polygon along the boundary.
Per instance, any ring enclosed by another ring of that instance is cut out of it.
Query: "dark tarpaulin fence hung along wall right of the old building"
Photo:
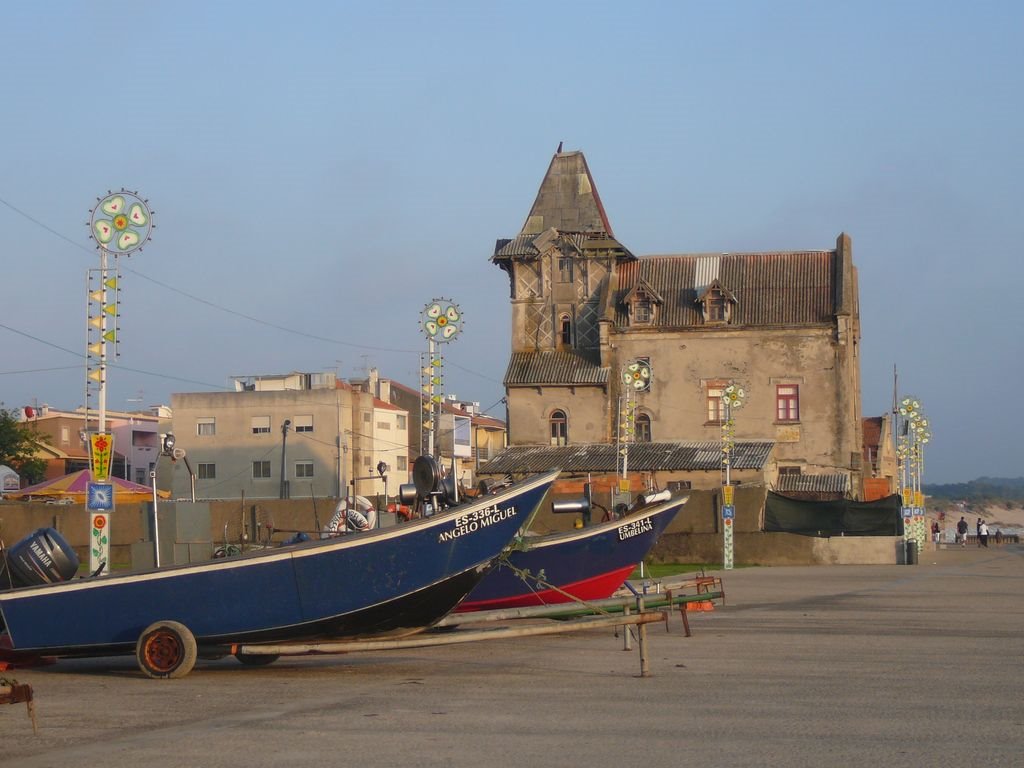
[[[873,502],[790,499],[768,492],[765,530],[802,536],[903,536],[900,497]]]

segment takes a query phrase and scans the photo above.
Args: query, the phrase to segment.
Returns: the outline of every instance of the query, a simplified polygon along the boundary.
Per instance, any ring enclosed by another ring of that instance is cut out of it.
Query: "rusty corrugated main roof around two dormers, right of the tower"
[[[697,297],[714,280],[736,297],[733,326],[830,323],[835,305],[835,251],[649,256],[618,268],[615,322],[627,326],[622,300],[645,280],[665,298],[655,326],[703,326]]]

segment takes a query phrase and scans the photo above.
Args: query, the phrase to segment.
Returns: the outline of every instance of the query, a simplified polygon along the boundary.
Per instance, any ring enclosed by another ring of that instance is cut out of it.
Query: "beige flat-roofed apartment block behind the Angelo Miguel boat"
[[[172,494],[198,499],[338,498],[409,481],[409,414],[328,373],[234,377],[234,391],[171,396]]]

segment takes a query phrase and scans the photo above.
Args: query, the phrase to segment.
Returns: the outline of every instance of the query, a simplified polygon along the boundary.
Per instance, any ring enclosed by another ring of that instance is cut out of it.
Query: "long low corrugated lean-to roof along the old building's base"
[[[761,469],[775,445],[772,440],[737,440],[732,468]],[[481,474],[526,474],[561,467],[563,472],[615,472],[617,450],[612,444],[513,445],[480,465]],[[705,470],[722,468],[722,443],[638,442],[630,445],[629,468],[637,472]]]

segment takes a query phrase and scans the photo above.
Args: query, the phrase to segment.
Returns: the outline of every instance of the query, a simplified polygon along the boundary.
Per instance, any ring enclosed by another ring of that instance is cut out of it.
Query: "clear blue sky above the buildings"
[[[153,7],[158,6],[158,7]],[[109,408],[376,366],[493,413],[508,284],[559,141],[634,253],[829,249],[860,270],[864,414],[926,479],[1018,476],[1024,4],[17,3],[0,29],[0,401],[84,401],[89,209],[137,189]]]

